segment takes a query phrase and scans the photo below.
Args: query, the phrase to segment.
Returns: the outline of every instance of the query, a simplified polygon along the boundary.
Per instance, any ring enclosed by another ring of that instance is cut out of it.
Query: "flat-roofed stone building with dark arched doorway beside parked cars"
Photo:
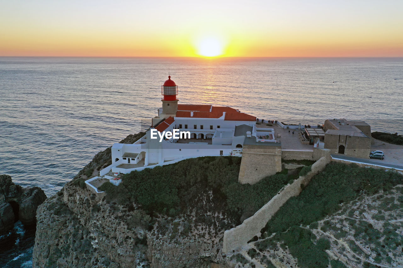
[[[324,124],[324,148],[332,154],[368,158],[371,151],[371,126],[364,121],[328,119]]]

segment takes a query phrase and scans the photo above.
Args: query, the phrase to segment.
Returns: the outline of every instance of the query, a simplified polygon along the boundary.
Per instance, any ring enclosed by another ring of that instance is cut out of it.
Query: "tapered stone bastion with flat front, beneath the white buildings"
[[[281,146],[244,144],[239,183],[253,184],[281,171]]]

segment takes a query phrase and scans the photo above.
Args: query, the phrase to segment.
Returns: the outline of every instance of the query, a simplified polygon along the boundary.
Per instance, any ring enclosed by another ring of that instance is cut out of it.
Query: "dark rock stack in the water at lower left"
[[[35,225],[36,210],[45,199],[41,188],[22,188],[9,175],[0,175],[0,234],[18,220],[24,225]]]

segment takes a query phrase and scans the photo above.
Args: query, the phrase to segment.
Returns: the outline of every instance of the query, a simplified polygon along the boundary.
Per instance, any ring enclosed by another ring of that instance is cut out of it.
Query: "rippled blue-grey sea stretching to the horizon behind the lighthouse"
[[[0,57],[0,174],[54,195],[96,153],[151,124],[168,75],[183,104],[403,133],[403,58]],[[34,238],[15,223],[0,236],[0,267],[31,267]]]

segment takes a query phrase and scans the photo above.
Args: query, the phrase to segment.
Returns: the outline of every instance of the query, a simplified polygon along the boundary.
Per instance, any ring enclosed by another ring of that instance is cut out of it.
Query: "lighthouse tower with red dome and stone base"
[[[168,80],[161,86],[161,94],[164,96],[162,97],[162,116],[174,117],[178,111],[178,86],[171,80],[171,76],[168,76]]]

